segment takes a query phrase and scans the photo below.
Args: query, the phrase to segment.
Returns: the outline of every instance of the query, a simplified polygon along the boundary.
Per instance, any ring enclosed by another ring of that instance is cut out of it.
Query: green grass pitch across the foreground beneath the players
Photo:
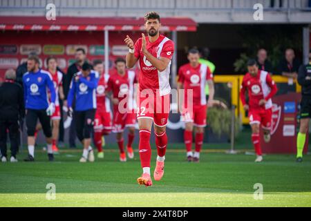
[[[180,146],[180,145],[179,145]],[[38,150],[39,148],[37,148]],[[185,161],[184,150],[167,151],[162,181],[139,187],[138,153],[134,160],[118,162],[116,150],[104,160],[81,164],[81,150],[61,151],[55,162],[36,152],[36,162],[0,164],[2,206],[311,206],[311,155],[302,164],[294,155],[267,155],[254,163],[254,155],[201,154],[199,164]],[[95,151],[96,152],[96,151]],[[151,170],[155,166],[153,151]],[[56,186],[56,199],[46,199],[46,185]],[[263,200],[254,199],[254,184],[263,184]]]

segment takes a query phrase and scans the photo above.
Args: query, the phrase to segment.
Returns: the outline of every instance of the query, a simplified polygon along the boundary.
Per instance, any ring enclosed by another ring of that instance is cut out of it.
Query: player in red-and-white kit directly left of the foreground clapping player
[[[113,133],[117,133],[120,161],[126,162],[123,140],[125,127],[129,128],[127,155],[130,159],[134,157],[132,144],[135,137],[136,116],[133,109],[133,95],[136,77],[133,70],[126,70],[125,60],[122,58],[115,60],[115,68],[117,68],[117,73],[109,77],[106,91],[113,93],[112,96],[108,95],[113,102]]]

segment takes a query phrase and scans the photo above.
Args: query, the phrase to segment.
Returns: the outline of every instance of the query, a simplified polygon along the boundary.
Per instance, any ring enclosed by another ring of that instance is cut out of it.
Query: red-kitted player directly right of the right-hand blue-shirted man
[[[96,88],[97,109],[94,119],[94,142],[97,148],[97,157],[104,158],[102,149],[102,139],[104,135],[111,133],[111,108],[109,99],[105,95],[109,75],[104,74],[104,64],[101,60],[93,62],[93,69],[100,74],[98,86]]]

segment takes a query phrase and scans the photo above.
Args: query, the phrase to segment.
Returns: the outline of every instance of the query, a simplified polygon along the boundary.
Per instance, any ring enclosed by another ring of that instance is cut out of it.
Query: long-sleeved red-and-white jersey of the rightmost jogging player
[[[271,98],[276,94],[277,88],[269,73],[264,70],[258,70],[258,75],[255,77],[249,73],[243,77],[240,90],[240,98],[243,105],[246,104],[246,90],[249,97],[249,111],[272,108]],[[265,99],[267,101],[265,106],[259,106],[259,101],[261,99]]]

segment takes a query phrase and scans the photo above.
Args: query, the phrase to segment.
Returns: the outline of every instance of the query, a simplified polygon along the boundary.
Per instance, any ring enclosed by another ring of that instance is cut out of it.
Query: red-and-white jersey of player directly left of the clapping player
[[[126,73],[121,76],[118,73],[110,75],[106,90],[112,91],[113,97],[117,97],[119,102],[128,98],[129,108],[133,109],[134,84],[136,83],[135,72],[126,70]]]

